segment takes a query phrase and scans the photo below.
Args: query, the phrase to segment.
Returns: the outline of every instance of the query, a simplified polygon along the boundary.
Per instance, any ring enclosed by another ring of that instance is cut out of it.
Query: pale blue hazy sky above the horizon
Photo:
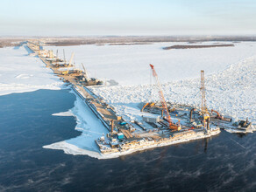
[[[0,0],[0,35],[255,35],[256,0]]]

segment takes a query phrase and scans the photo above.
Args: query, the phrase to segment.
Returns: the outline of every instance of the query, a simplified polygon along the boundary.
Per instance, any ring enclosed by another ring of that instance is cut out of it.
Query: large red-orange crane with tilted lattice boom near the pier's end
[[[158,89],[159,89],[160,101],[161,101],[162,107],[164,108],[164,112],[165,112],[165,114],[167,116],[167,121],[169,123],[169,128],[173,129],[173,130],[180,130],[181,127],[174,125],[173,121],[171,120],[171,116],[170,116],[170,114],[168,112],[167,102],[166,102],[166,99],[164,97],[164,93],[162,92],[162,88],[161,88],[161,85],[160,85],[160,81],[158,79],[158,75],[157,75],[157,73],[154,70],[154,66],[150,64],[150,67],[152,69],[153,77],[155,78],[156,85],[158,86]]]

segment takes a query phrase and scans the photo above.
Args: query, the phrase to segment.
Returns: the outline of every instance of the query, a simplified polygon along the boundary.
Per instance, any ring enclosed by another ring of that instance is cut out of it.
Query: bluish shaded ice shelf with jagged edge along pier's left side
[[[107,134],[108,131],[103,127],[102,122],[96,115],[89,109],[89,106],[87,106],[74,91],[71,91],[71,93],[75,94],[76,100],[75,106],[68,112],[68,115],[74,115],[76,117],[77,125],[75,130],[81,131],[82,134],[70,140],[60,141],[44,147],[60,149],[66,154],[87,154],[91,157],[100,159],[101,154],[99,153],[95,140],[103,134]],[[63,115],[63,113],[57,113],[57,115],[58,114]]]

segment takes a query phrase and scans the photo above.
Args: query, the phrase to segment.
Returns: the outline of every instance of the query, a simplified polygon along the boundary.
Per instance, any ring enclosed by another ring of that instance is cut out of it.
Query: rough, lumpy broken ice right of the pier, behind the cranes
[[[199,77],[200,72],[197,73]],[[223,72],[209,75],[205,79],[207,106],[220,113],[231,115],[234,119],[245,120],[248,117],[255,122],[255,79],[256,56],[230,65]],[[195,106],[201,103],[199,87],[199,78],[173,81],[162,85],[167,101]],[[117,113],[130,119],[139,113],[140,102],[159,100],[157,89],[151,85],[90,87],[90,89],[114,106]]]

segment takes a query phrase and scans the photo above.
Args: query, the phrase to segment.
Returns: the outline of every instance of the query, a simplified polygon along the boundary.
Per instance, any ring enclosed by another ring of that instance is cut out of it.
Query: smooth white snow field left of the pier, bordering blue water
[[[62,84],[39,58],[28,55],[24,46],[0,49],[0,95],[60,89]]]

